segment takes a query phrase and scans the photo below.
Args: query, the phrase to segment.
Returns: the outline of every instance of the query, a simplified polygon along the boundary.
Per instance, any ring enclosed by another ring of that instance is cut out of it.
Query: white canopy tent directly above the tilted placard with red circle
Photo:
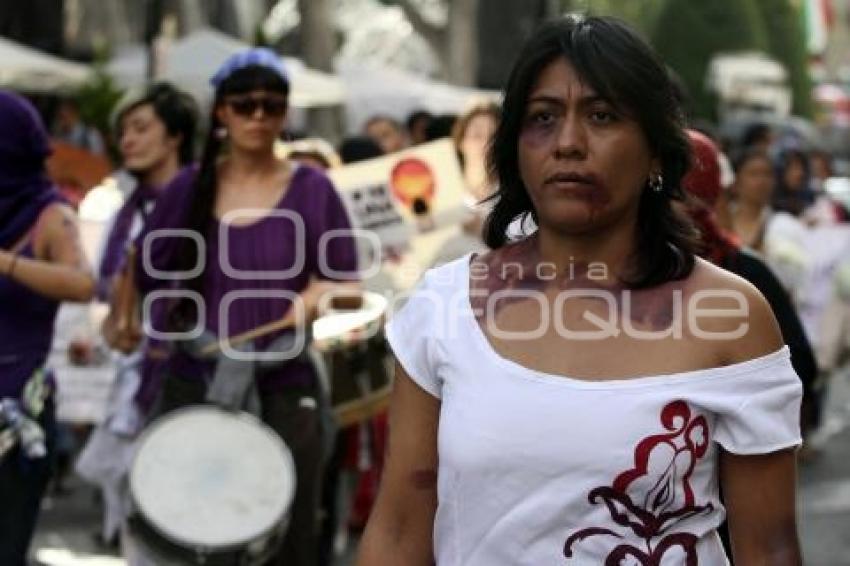
[[[345,83],[347,127],[355,132],[375,114],[403,121],[414,110],[432,114],[460,114],[482,100],[499,102],[501,93],[440,83],[397,69],[339,61],[337,72]]]

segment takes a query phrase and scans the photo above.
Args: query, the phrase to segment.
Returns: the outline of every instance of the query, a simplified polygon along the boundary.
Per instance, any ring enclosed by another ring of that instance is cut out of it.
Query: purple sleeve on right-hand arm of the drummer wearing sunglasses
[[[322,173],[316,174],[314,190],[321,196],[316,208],[316,217],[311,219],[314,228],[308,227],[313,233],[314,273],[320,279],[352,281],[360,279],[357,271],[357,243],[352,234],[351,221],[342,199],[330,179]],[[330,231],[333,234],[328,234]],[[336,231],[345,231],[340,234]],[[328,234],[325,241],[320,243],[322,234]],[[320,255],[324,256],[319,257]]]

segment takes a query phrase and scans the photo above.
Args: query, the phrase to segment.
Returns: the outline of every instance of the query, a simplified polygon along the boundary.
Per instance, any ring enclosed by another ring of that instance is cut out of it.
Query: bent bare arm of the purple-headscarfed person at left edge
[[[38,220],[33,244],[35,259],[0,251],[0,275],[49,299],[81,303],[92,299],[94,277],[70,207],[48,207]]]

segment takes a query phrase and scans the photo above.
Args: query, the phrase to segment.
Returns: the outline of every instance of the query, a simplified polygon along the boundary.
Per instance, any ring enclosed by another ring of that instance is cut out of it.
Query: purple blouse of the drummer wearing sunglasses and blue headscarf
[[[186,170],[172,181],[157,200],[139,237],[137,274],[143,293],[180,288],[180,283],[145,272],[143,246],[152,231],[185,225],[196,174],[196,169]],[[302,291],[311,275],[323,279],[356,278],[354,238],[342,233],[320,241],[331,230],[348,229],[348,215],[330,180],[321,171],[303,165],[293,172],[289,188],[269,213],[248,224],[222,224],[214,220],[204,238],[202,310],[206,329],[219,337],[233,336],[279,320],[291,304],[289,298],[280,294]],[[173,271],[175,251],[182,239],[163,236],[148,241],[151,266],[159,271]],[[229,308],[225,308],[227,304]],[[154,329],[168,331],[164,324],[165,309],[157,308],[154,302],[152,310]],[[256,340],[256,349],[264,349],[278,336],[280,333]],[[152,347],[158,345],[161,342],[151,340]],[[143,370],[139,401],[143,407],[150,406],[163,375],[208,380],[213,370],[213,362],[201,362],[179,351],[165,362],[149,362]],[[279,390],[286,385],[309,383],[311,375],[306,362],[292,360],[258,374],[258,386],[260,391]]]

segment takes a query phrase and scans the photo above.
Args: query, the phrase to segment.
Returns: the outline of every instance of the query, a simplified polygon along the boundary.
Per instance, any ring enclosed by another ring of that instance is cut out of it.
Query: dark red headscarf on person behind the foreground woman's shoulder
[[[708,136],[687,130],[691,146],[691,167],[682,178],[682,188],[693,197],[687,203],[688,215],[702,236],[702,255],[715,264],[723,261],[740,247],[732,234],[717,223],[714,205],[723,190],[720,184],[720,151]]]

